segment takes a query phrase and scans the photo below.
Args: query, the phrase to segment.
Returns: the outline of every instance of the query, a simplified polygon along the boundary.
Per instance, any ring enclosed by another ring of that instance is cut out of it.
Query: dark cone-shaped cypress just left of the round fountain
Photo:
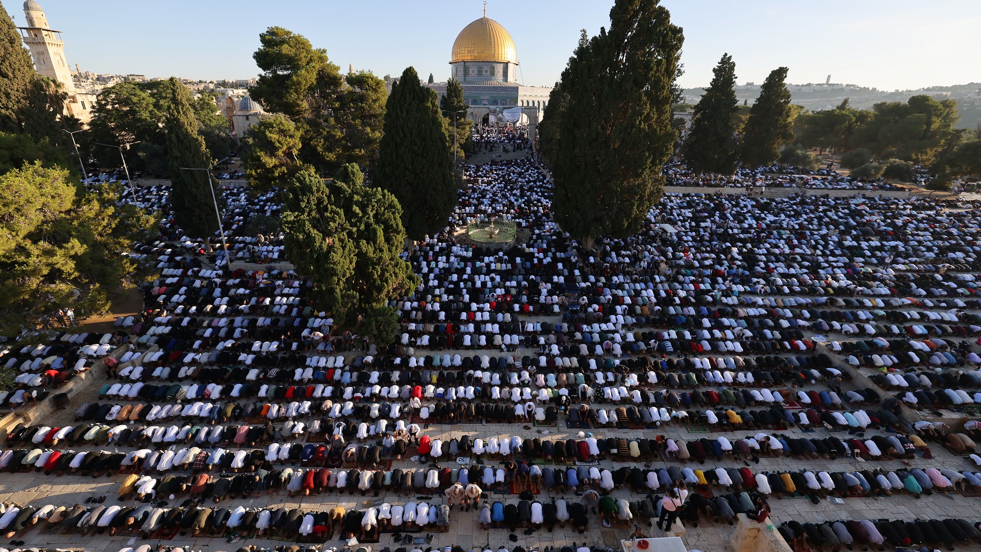
[[[445,227],[456,203],[449,142],[437,93],[407,68],[388,95],[375,183],[398,199],[413,240]]]

